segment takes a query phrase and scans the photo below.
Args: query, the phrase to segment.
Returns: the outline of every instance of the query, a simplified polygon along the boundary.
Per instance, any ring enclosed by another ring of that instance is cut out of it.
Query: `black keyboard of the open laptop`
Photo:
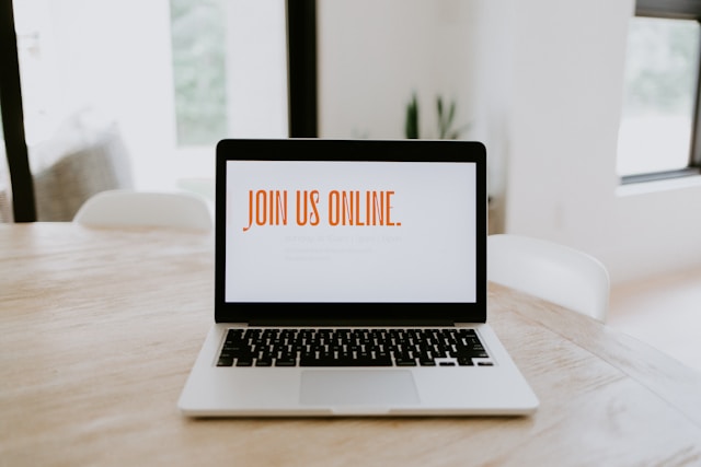
[[[493,365],[470,328],[232,328],[217,366]]]

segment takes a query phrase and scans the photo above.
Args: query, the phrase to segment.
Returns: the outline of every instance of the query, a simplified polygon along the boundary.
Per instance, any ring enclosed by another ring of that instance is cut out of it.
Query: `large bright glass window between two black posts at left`
[[[284,0],[13,3],[35,179],[67,121],[114,122],[139,189],[211,179],[219,139],[287,136]]]

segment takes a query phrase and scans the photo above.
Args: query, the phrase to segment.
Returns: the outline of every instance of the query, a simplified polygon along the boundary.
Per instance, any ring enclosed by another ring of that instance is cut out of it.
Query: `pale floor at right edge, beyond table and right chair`
[[[613,285],[608,324],[701,371],[701,268]]]

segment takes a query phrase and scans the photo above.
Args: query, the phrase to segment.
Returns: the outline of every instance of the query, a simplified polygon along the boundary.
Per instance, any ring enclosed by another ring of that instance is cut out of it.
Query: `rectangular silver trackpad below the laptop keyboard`
[[[418,404],[414,377],[405,370],[307,370],[301,404],[307,406],[395,406]]]

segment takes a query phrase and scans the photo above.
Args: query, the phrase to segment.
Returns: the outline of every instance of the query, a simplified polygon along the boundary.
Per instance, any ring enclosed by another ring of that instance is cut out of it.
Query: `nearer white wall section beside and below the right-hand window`
[[[514,2],[506,229],[598,256],[622,282],[701,264],[699,177],[620,188],[633,0]]]

